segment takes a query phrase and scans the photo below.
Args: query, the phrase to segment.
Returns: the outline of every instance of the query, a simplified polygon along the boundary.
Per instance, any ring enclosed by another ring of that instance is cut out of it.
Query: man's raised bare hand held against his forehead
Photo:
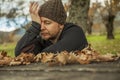
[[[32,21],[41,24],[40,16],[38,15],[39,9],[40,9],[40,5],[37,2],[30,2],[29,12]]]

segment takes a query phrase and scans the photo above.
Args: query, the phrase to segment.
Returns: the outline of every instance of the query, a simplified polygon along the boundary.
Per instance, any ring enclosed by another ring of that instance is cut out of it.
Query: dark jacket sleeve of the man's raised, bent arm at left
[[[40,33],[40,24],[32,21],[31,27],[26,31],[26,33],[18,41],[15,47],[15,56],[18,56],[21,52],[35,51],[35,53],[37,53],[41,49],[40,47],[35,48],[41,43],[41,38],[39,36],[39,33]]]

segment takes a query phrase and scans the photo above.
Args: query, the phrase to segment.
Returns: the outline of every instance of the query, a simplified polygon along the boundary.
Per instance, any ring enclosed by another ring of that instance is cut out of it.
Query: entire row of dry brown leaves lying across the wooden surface
[[[91,62],[115,61],[120,58],[120,54],[99,54],[89,45],[81,51],[60,53],[21,53],[15,58],[7,56],[5,51],[0,52],[0,66],[4,65],[27,65],[33,62],[41,62],[51,65],[66,65],[66,64],[89,64]]]

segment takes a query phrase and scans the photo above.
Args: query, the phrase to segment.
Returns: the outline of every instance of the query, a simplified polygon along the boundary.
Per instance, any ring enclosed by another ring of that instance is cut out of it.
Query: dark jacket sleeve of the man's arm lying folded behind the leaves
[[[75,51],[82,50],[88,45],[83,30],[79,27],[74,27],[67,30],[62,39],[57,43],[43,49],[43,52],[61,52],[61,51]]]

